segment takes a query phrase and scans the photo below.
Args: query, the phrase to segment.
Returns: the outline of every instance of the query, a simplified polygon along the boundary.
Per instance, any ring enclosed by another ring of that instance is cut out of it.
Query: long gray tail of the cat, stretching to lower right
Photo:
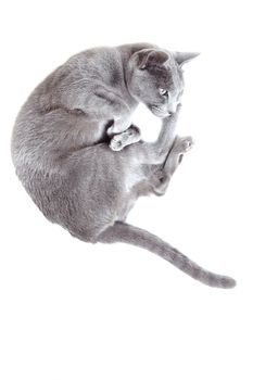
[[[210,287],[228,289],[236,286],[236,281],[232,278],[216,275],[203,269],[155,235],[126,223],[116,221],[99,236],[98,242],[122,242],[143,248],[156,253],[159,256],[165,258],[193,279]]]

